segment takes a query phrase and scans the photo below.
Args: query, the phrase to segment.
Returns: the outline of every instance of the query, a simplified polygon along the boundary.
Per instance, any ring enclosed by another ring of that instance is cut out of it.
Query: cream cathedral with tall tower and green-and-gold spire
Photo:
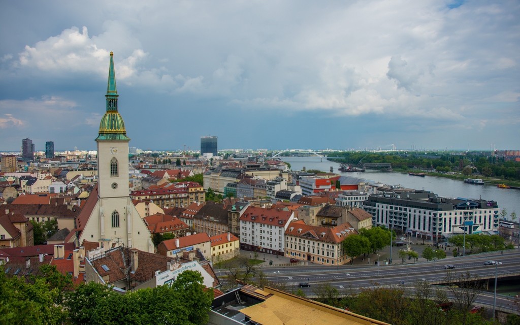
[[[118,111],[113,53],[110,53],[107,110],[99,124],[97,142],[98,184],[76,218],[69,242],[98,247],[136,248],[153,253],[150,232],[129,197],[128,142],[125,124]]]

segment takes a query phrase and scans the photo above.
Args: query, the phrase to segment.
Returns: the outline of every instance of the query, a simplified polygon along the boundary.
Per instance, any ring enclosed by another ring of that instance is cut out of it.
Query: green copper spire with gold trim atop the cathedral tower
[[[107,112],[103,115],[99,124],[99,136],[96,141],[101,140],[123,140],[129,141],[126,136],[125,123],[118,112],[118,90],[115,86],[114,53],[110,52],[110,66],[108,69],[107,86]]]

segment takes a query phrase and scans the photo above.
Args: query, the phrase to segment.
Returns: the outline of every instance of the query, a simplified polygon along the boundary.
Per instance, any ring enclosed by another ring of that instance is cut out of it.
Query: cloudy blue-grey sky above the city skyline
[[[1,1],[0,150],[520,149],[520,3]]]

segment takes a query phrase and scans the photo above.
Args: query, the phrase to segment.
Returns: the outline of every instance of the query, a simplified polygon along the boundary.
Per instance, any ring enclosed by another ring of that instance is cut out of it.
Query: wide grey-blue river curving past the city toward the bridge
[[[339,163],[319,157],[288,157],[282,158],[282,161],[290,163],[293,171],[300,171],[305,167],[306,170],[329,172],[330,167],[333,167],[333,173],[336,174],[364,178],[388,185],[401,185],[406,188],[432,191],[441,197],[493,200],[498,202],[500,209],[505,208],[508,211],[508,218],[513,211],[520,217],[520,190],[498,188],[496,185],[466,184],[460,180],[444,177],[410,176],[397,172],[367,170],[365,173],[345,173],[337,169],[340,167]],[[518,221],[518,219],[516,220]]]

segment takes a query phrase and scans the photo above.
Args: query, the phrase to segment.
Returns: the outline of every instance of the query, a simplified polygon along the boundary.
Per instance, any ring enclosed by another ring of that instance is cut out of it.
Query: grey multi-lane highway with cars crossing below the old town
[[[497,261],[501,264],[484,265],[485,261]],[[445,269],[444,266],[447,264],[454,265],[455,268]],[[263,271],[269,281],[284,283],[289,287],[297,287],[300,282],[310,283],[310,288],[301,288],[308,296],[314,294],[313,288],[316,288],[319,283],[329,283],[338,289],[340,294],[346,290],[389,285],[401,285],[411,291],[413,283],[416,281],[427,281],[430,284],[446,283],[448,272],[452,272],[454,277],[469,272],[472,276],[493,280],[495,279],[495,271],[497,271],[499,278],[520,276],[520,251],[504,251],[503,254],[491,252],[433,262],[393,264],[380,267],[373,264],[337,267],[314,265],[269,266],[264,267]],[[225,274],[225,271],[220,270],[218,272],[218,275],[223,274]],[[404,284],[402,284],[403,282]],[[493,284],[494,281],[490,281],[490,288]],[[438,290],[446,290],[445,287],[437,285],[434,287]],[[477,299],[477,303],[492,307],[493,295],[482,292]],[[500,295],[497,295],[497,309],[518,313],[512,299]]]

